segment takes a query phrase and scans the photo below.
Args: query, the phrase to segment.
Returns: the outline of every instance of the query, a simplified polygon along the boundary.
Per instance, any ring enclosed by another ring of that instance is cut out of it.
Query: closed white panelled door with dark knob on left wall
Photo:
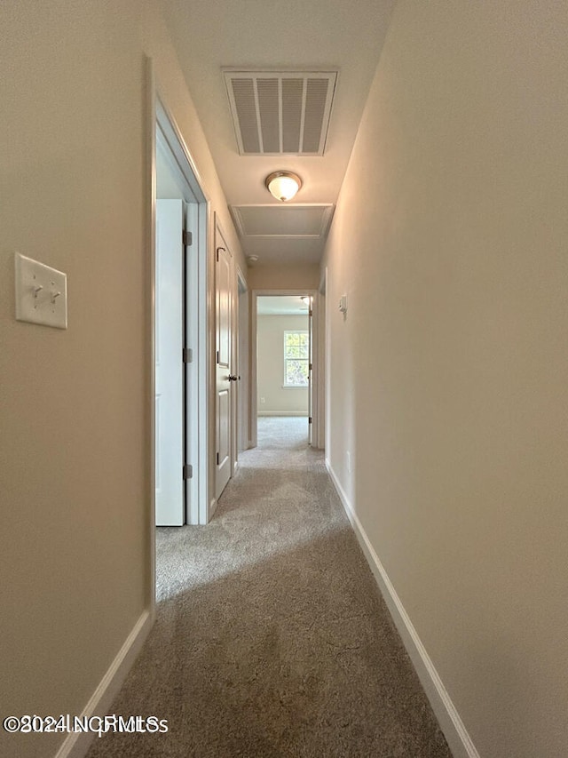
[[[232,357],[232,260],[225,240],[216,229],[216,487],[218,499],[231,476],[232,441],[232,383],[237,377],[231,373]]]

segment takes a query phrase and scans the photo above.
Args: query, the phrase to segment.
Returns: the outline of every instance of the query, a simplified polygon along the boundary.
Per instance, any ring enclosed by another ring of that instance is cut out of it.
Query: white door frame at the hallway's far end
[[[318,418],[321,409],[318,400],[319,396],[319,318],[318,318],[318,298],[317,290],[313,290],[310,287],[304,287],[304,289],[293,290],[253,290],[251,292],[250,300],[250,447],[256,447],[258,443],[258,355],[256,346],[256,331],[258,325],[258,303],[257,299],[266,295],[296,295],[301,297],[302,295],[310,295],[312,297],[312,440],[314,441],[314,447],[318,443]],[[315,426],[314,426],[315,425]]]

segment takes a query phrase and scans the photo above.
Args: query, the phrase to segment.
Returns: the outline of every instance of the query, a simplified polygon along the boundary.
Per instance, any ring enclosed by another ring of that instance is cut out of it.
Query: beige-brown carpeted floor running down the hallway
[[[451,758],[306,419],[259,419],[206,527],[157,530],[157,620],[89,758]]]

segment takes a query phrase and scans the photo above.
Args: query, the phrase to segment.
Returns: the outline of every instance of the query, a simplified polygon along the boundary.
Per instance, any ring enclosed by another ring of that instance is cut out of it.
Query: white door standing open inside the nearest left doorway
[[[156,525],[184,523],[182,200],[156,200],[155,479]]]

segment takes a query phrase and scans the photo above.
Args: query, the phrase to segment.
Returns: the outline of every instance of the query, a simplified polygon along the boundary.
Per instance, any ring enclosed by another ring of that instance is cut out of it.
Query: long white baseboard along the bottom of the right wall
[[[371,545],[354,508],[327,459],[326,467],[454,758],[479,758],[477,749],[469,737],[468,731],[461,721],[461,716],[458,714],[452,699],[447,693],[444,682],[440,679],[410,617],[406,613],[404,605],[398,597],[396,589],[384,569],[383,563],[381,563],[379,556],[376,555],[374,547]]]

